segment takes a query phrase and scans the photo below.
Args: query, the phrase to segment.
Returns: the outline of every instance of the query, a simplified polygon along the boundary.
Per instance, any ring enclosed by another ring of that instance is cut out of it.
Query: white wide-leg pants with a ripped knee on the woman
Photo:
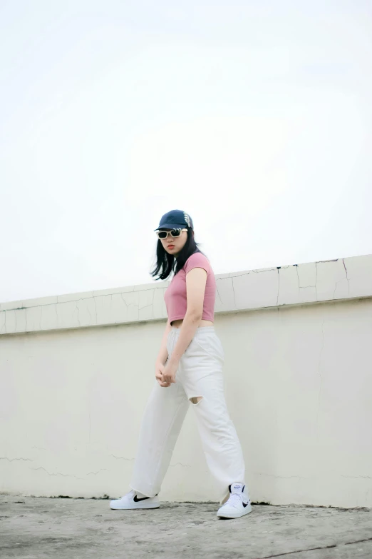
[[[172,328],[167,338],[168,356],[180,334]],[[162,388],[155,380],[140,428],[130,488],[154,497],[172,458],[187,409],[192,406],[219,501],[229,495],[229,484],[244,482],[244,458],[224,398],[224,351],[214,326],[200,326],[180,359],[176,382]],[[198,403],[191,398],[200,397]],[[246,488],[245,493],[248,493]]]

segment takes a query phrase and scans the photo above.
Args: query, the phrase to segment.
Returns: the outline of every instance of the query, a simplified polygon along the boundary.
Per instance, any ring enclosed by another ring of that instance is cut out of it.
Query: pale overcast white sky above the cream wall
[[[372,253],[363,0],[0,0],[0,301]]]

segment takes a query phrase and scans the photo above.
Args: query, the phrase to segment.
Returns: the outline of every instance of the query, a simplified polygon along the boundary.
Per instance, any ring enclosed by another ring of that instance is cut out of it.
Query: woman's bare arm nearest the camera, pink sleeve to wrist
[[[207,272],[203,268],[192,268],[186,275],[187,311],[180,328],[180,336],[172,351],[170,364],[177,367],[180,358],[195,336],[202,320]]]

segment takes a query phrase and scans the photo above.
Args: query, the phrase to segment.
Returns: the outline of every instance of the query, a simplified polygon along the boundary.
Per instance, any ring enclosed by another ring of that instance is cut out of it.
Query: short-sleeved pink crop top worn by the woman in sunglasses
[[[216,299],[215,274],[208,258],[204,254],[196,252],[187,258],[185,266],[172,277],[172,281],[165,291],[164,301],[170,323],[185,318],[187,309],[186,274],[192,268],[203,268],[207,272],[202,320],[214,321]]]

